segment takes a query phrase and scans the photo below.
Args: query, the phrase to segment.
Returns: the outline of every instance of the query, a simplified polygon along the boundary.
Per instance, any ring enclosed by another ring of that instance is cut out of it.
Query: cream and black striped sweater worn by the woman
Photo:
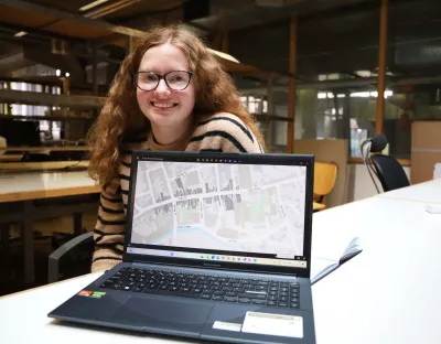
[[[132,150],[263,152],[247,126],[230,114],[205,118],[192,130],[170,146],[158,144],[152,132],[147,138],[126,143],[118,176],[101,189],[98,219],[94,229],[93,272],[110,269],[121,261]]]

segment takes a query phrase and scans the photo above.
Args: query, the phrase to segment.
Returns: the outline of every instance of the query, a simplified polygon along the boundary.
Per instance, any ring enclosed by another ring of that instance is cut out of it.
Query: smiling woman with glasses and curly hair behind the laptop
[[[133,149],[263,152],[232,79],[183,25],[152,29],[126,57],[88,141],[103,185],[93,271],[121,261]]]

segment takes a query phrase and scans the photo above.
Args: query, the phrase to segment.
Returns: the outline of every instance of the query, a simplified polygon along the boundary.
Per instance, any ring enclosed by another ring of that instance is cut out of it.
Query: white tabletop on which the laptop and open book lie
[[[380,197],[314,214],[313,230],[319,234],[351,229],[359,233],[364,251],[312,288],[318,343],[441,343],[441,215],[426,213],[423,203]],[[7,343],[172,342],[46,318],[97,276],[1,299],[2,338]]]

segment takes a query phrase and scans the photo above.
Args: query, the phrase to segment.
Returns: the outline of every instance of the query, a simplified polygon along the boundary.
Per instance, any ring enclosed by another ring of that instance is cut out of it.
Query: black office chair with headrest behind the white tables
[[[378,193],[380,191],[374,179],[374,174],[381,183],[384,192],[410,185],[401,164],[395,158],[381,154],[386,146],[386,137],[380,133],[375,133],[372,139],[362,143],[363,161]],[[369,152],[373,154],[368,158]]]

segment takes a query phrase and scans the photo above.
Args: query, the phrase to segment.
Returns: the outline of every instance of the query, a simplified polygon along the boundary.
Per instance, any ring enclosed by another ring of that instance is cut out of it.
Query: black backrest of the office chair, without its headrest
[[[405,170],[395,158],[373,154],[370,160],[385,192],[410,185]]]

